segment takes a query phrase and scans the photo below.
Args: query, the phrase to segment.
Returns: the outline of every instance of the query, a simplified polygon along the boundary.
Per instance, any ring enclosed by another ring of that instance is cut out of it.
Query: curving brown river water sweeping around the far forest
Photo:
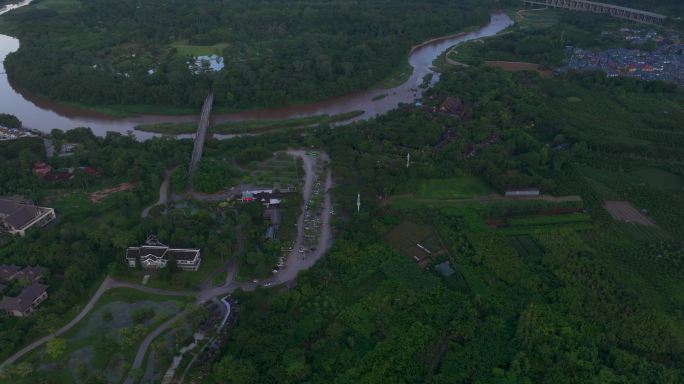
[[[512,20],[503,13],[493,13],[490,17],[489,23],[475,32],[459,33],[431,39],[429,42],[413,47],[408,60],[403,64],[404,69],[410,67],[411,70],[397,70],[397,75],[393,77],[396,82],[399,82],[399,80],[403,82],[394,88],[385,89],[378,87],[373,90],[358,91],[310,104],[301,104],[297,100],[291,100],[290,102],[293,105],[275,109],[253,109],[235,112],[225,107],[218,107],[214,109],[212,119],[216,123],[215,125],[252,121],[267,122],[264,124],[265,127],[255,127],[252,124],[233,125],[226,127],[224,131],[241,133],[250,130],[264,131],[280,128],[278,125],[273,126],[273,121],[321,115],[335,116],[355,111],[365,111],[363,114],[345,120],[345,123],[348,123],[385,114],[402,103],[412,103],[415,98],[420,97],[419,94],[422,90],[417,91],[418,86],[425,75],[434,72],[432,61],[440,53],[461,42],[495,34],[512,24]],[[19,40],[10,36],[0,35],[0,60],[8,54],[16,52],[19,49],[19,45]],[[407,76],[408,78],[406,78]],[[392,84],[387,83],[384,85],[389,86]],[[135,130],[135,135],[139,140],[146,140],[158,136],[162,132],[170,134],[180,134],[180,132],[193,133],[195,131],[194,124],[197,121],[197,110],[193,108],[116,105],[91,109],[91,107],[79,104],[65,105],[55,103],[22,90],[16,84],[9,81],[5,75],[0,75],[0,99],[3,100],[3,110],[17,115],[24,123],[24,126],[39,129],[43,132],[49,132],[54,128],[70,130],[76,127],[90,127],[96,135],[104,136],[107,132],[125,134],[129,131],[134,131],[136,127],[140,126],[154,126],[162,123],[168,125],[168,127],[164,128],[148,127],[149,129]],[[124,110],[122,111],[122,109]],[[170,128],[176,124],[184,124],[185,127]],[[302,123],[299,122],[295,126],[300,124]],[[192,129],[190,129],[190,125],[192,125]]]

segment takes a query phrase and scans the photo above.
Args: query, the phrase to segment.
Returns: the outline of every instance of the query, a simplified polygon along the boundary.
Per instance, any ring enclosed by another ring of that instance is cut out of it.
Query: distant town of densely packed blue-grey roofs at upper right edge
[[[568,60],[561,71],[602,70],[608,77],[634,77],[684,85],[684,44],[675,33],[620,29],[625,41],[639,48],[613,48],[604,51],[566,47]],[[611,34],[611,32],[604,32]],[[654,44],[655,49],[644,45]]]

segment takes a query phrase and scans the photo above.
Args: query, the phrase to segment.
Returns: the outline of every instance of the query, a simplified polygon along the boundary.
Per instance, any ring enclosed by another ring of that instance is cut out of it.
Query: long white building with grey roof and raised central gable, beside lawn
[[[169,260],[175,260],[178,269],[195,272],[199,269],[202,257],[199,249],[171,248],[162,244],[154,235],[147,237],[145,245],[128,247],[126,250],[126,261],[131,268],[135,268],[140,262],[145,269],[162,269]]]

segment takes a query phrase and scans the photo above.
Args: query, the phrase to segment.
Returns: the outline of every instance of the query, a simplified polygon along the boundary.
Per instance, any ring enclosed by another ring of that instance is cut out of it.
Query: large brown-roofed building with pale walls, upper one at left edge
[[[25,236],[31,227],[44,227],[56,218],[52,208],[0,198],[0,233]]]

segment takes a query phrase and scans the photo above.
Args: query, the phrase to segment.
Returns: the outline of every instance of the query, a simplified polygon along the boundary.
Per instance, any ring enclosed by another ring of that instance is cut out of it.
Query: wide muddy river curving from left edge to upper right
[[[20,4],[25,5],[28,3],[30,3],[30,0]],[[365,120],[384,114],[396,108],[399,103],[412,103],[416,97],[420,96],[420,88],[418,86],[422,83],[423,77],[426,74],[434,73],[431,69],[432,62],[441,53],[456,44],[495,35],[512,24],[513,21],[506,14],[494,12],[491,14],[489,23],[476,31],[431,40],[414,47],[408,59],[414,68],[413,74],[408,81],[395,88],[359,91],[317,103],[295,105],[286,108],[216,114],[212,117],[212,121],[214,123],[222,123],[244,120],[274,120],[320,114],[335,115],[361,110],[365,111],[365,113],[354,120]],[[53,128],[68,130],[76,127],[90,127],[93,133],[103,136],[107,131],[121,133],[132,131],[139,124],[196,122],[199,119],[199,114],[186,116],[142,115],[114,118],[87,109],[65,106],[32,95],[12,84],[7,74],[5,74],[5,69],[2,65],[5,57],[17,49],[19,49],[19,40],[0,34],[0,112],[17,116],[27,128],[49,132]],[[438,79],[438,75],[435,73],[433,83]],[[379,100],[373,100],[381,95],[387,96]],[[135,135],[141,140],[157,136],[153,133],[139,131],[136,131]]]

